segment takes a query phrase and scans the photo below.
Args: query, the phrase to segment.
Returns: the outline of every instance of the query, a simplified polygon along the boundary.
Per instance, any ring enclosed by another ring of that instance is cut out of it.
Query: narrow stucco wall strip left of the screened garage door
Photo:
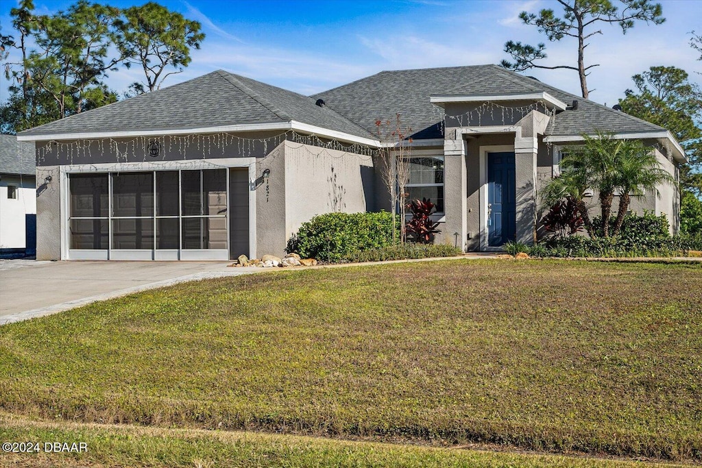
[[[51,176],[50,182],[44,182]],[[58,166],[37,167],[37,260],[61,259],[61,197]]]

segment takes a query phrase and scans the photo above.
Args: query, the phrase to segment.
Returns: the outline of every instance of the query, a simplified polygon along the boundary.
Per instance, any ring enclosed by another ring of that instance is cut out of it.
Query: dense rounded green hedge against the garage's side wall
[[[400,236],[397,217],[397,239]],[[392,213],[326,213],[300,226],[286,251],[301,257],[340,262],[364,250],[392,246]]]

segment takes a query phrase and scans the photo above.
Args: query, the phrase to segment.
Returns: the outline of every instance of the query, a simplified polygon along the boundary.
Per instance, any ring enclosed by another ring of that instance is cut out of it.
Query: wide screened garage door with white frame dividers
[[[230,258],[229,177],[225,168],[69,174],[69,259]],[[248,195],[246,185],[247,231]]]

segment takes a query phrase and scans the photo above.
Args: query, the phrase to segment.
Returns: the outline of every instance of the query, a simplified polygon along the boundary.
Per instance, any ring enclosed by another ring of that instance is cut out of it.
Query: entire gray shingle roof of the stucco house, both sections
[[[442,109],[436,95],[508,95],[546,92],[578,109],[559,112],[549,136],[650,133],[665,128],[566,93],[497,65],[425,68],[380,72],[312,97],[223,70],[152,93],[115,102],[20,133],[43,135],[161,132],[260,123],[304,123],[329,131],[376,140],[376,121],[401,114],[416,139],[443,138]],[[315,105],[323,99],[326,105]],[[32,138],[35,139],[35,138]]]

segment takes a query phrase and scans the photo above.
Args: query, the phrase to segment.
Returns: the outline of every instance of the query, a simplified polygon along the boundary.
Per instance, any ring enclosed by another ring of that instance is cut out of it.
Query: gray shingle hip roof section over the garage
[[[289,121],[372,137],[333,109],[315,105],[308,96],[223,70],[46,123],[20,135],[167,132]]]

